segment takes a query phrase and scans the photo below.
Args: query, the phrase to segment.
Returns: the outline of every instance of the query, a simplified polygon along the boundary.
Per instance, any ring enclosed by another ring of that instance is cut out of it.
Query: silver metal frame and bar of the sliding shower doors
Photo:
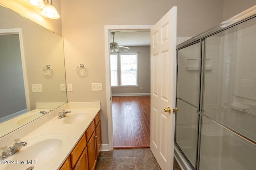
[[[182,157],[185,159],[186,163],[188,164],[189,168],[192,170],[199,170],[199,161],[200,161],[200,138],[201,138],[201,127],[202,127],[202,116],[207,117],[208,119],[211,119],[214,123],[217,123],[218,125],[220,125],[221,127],[227,129],[228,131],[231,131],[233,133],[235,133],[236,135],[239,135],[240,137],[246,139],[247,141],[250,141],[251,143],[254,143],[256,145],[256,142],[249,139],[248,137],[242,135],[241,133],[238,133],[237,131],[234,131],[233,129],[227,127],[226,125],[215,121],[214,119],[208,117],[207,115],[205,115],[203,113],[202,110],[202,106],[203,106],[203,95],[204,95],[204,66],[205,66],[205,51],[206,51],[206,38],[210,37],[216,33],[219,33],[225,29],[228,29],[230,27],[233,27],[234,25],[238,25],[239,23],[242,23],[244,21],[250,20],[252,18],[256,17],[256,5],[249,8],[248,10],[245,10],[244,12],[241,12],[240,14],[216,25],[215,27],[212,27],[211,29],[208,29],[207,31],[204,31],[203,33],[177,45],[176,48],[176,66],[177,66],[177,72],[176,72],[176,86],[178,87],[178,51],[180,49],[184,49],[185,47],[188,47],[190,45],[193,45],[195,43],[199,43],[200,42],[200,63],[199,63],[199,89],[198,89],[198,136],[197,136],[197,148],[196,148],[196,164],[195,164],[195,168],[193,167],[193,165],[190,163],[190,161],[188,160],[188,158],[185,156],[184,152],[180,149],[180,147],[178,146],[178,144],[176,143],[176,118],[177,115],[175,115],[175,134],[174,134],[174,144],[175,146],[178,148],[178,151],[182,154]],[[177,106],[177,90],[176,90],[176,106]],[[179,114],[177,112],[177,114]]]

